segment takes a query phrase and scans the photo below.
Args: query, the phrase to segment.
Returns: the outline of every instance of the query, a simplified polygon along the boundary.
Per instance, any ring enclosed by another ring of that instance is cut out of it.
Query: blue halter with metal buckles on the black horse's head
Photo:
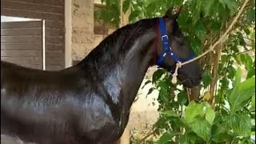
[[[175,63],[186,62],[186,61],[189,61],[190,59],[193,59],[195,57],[194,55],[191,55],[189,58],[186,58],[185,61],[181,61],[178,58],[178,55],[174,54],[174,51],[169,46],[169,39],[168,39],[168,36],[166,34],[166,25],[165,25],[165,22],[164,22],[163,18],[159,18],[159,27],[160,27],[160,32],[161,32],[163,51],[162,51],[162,54],[160,54],[160,57],[158,58],[158,60],[156,62],[156,64],[158,66],[162,66],[162,63],[163,63],[164,59],[166,58],[166,55],[170,55],[171,58],[174,59]],[[173,71],[170,70],[170,72],[172,73]]]

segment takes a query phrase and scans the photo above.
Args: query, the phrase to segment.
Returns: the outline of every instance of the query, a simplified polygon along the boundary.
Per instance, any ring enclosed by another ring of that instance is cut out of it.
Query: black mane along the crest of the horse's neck
[[[108,60],[118,62],[120,58],[125,56],[126,51],[133,46],[135,40],[145,34],[147,30],[153,29],[156,22],[157,18],[146,18],[115,30],[114,33],[100,42],[80,64],[95,65],[98,63],[100,65],[103,60],[105,62]],[[106,65],[106,63],[103,65]]]

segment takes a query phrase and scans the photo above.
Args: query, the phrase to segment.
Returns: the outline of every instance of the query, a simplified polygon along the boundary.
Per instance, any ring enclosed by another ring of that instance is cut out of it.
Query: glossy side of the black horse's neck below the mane
[[[138,38],[119,64],[113,66],[104,78],[103,85],[115,104],[122,107],[122,114],[130,111],[130,106],[146,74],[146,70],[152,64],[154,54],[154,33]]]

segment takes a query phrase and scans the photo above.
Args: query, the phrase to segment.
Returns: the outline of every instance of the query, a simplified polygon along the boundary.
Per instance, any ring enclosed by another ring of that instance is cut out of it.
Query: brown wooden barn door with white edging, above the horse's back
[[[1,22],[1,60],[43,70],[42,21]]]

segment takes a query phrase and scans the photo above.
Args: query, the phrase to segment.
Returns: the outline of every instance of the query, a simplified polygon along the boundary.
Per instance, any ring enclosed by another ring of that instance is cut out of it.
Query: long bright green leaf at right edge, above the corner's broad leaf
[[[231,94],[228,96],[230,103],[230,112],[234,113],[240,110],[243,102],[246,102],[255,93],[255,78],[246,79],[234,87]]]

